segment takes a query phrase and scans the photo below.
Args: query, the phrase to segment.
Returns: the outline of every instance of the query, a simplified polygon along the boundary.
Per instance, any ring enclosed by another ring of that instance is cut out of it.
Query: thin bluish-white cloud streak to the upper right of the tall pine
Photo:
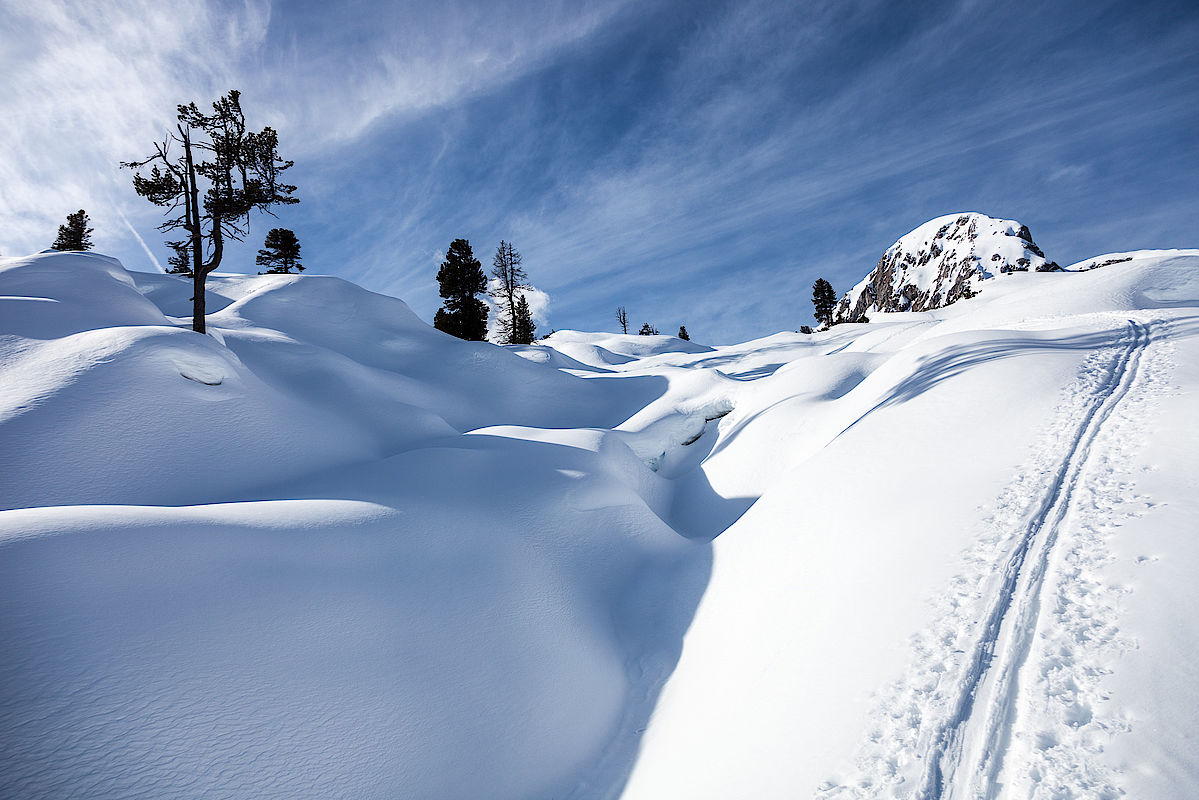
[[[338,4],[295,20],[281,10],[255,77],[265,97],[282,98],[277,127],[308,152],[514,80],[628,1]]]

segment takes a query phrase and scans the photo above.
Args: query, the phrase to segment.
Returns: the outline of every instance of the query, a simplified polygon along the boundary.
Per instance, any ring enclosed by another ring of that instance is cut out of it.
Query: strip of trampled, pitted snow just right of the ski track
[[[1022,680],[1030,687],[1016,706],[1006,774],[1012,794],[1034,799],[1123,794],[1119,775],[1095,756],[1113,735],[1129,732],[1123,715],[1104,708],[1103,678],[1120,654],[1137,643],[1117,625],[1122,597],[1131,591],[1102,581],[1099,570],[1114,560],[1109,540],[1125,521],[1153,504],[1135,492],[1126,473],[1145,439],[1155,398],[1168,391],[1173,344],[1150,342],[1134,389],[1099,431],[1087,474],[1068,521],[1070,546],[1050,565],[1055,575],[1046,599],[1050,625],[1032,642]]]

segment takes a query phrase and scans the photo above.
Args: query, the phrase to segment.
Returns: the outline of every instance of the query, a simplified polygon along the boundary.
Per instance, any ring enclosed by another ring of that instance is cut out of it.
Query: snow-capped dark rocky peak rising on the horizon
[[[951,213],[892,245],[840,299],[835,320],[856,323],[872,312],[940,308],[972,296],[978,282],[999,273],[1060,269],[1046,259],[1028,225],[983,213]]]

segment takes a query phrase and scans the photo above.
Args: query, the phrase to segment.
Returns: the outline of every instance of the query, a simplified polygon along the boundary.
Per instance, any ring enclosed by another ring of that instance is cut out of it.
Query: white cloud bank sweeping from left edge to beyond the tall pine
[[[623,0],[303,4],[5,0],[0,26],[0,252],[43,247],[86,207],[97,245],[131,247],[155,211],[118,163],[147,150],[180,102],[230,88],[285,155],[330,157],[373,125],[501,86],[588,36]],[[126,251],[127,252],[127,251]]]

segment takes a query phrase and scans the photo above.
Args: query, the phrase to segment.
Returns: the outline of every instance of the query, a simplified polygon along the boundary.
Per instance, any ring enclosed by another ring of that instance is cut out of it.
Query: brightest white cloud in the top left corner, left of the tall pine
[[[229,13],[227,13],[229,12]],[[100,247],[123,237],[118,162],[161,138],[175,104],[212,95],[266,32],[266,7],[7,0],[0,25],[0,247],[46,247],[86,207]],[[11,35],[16,32],[17,35]],[[132,212],[132,206],[127,206]],[[143,216],[143,215],[135,215]]]

